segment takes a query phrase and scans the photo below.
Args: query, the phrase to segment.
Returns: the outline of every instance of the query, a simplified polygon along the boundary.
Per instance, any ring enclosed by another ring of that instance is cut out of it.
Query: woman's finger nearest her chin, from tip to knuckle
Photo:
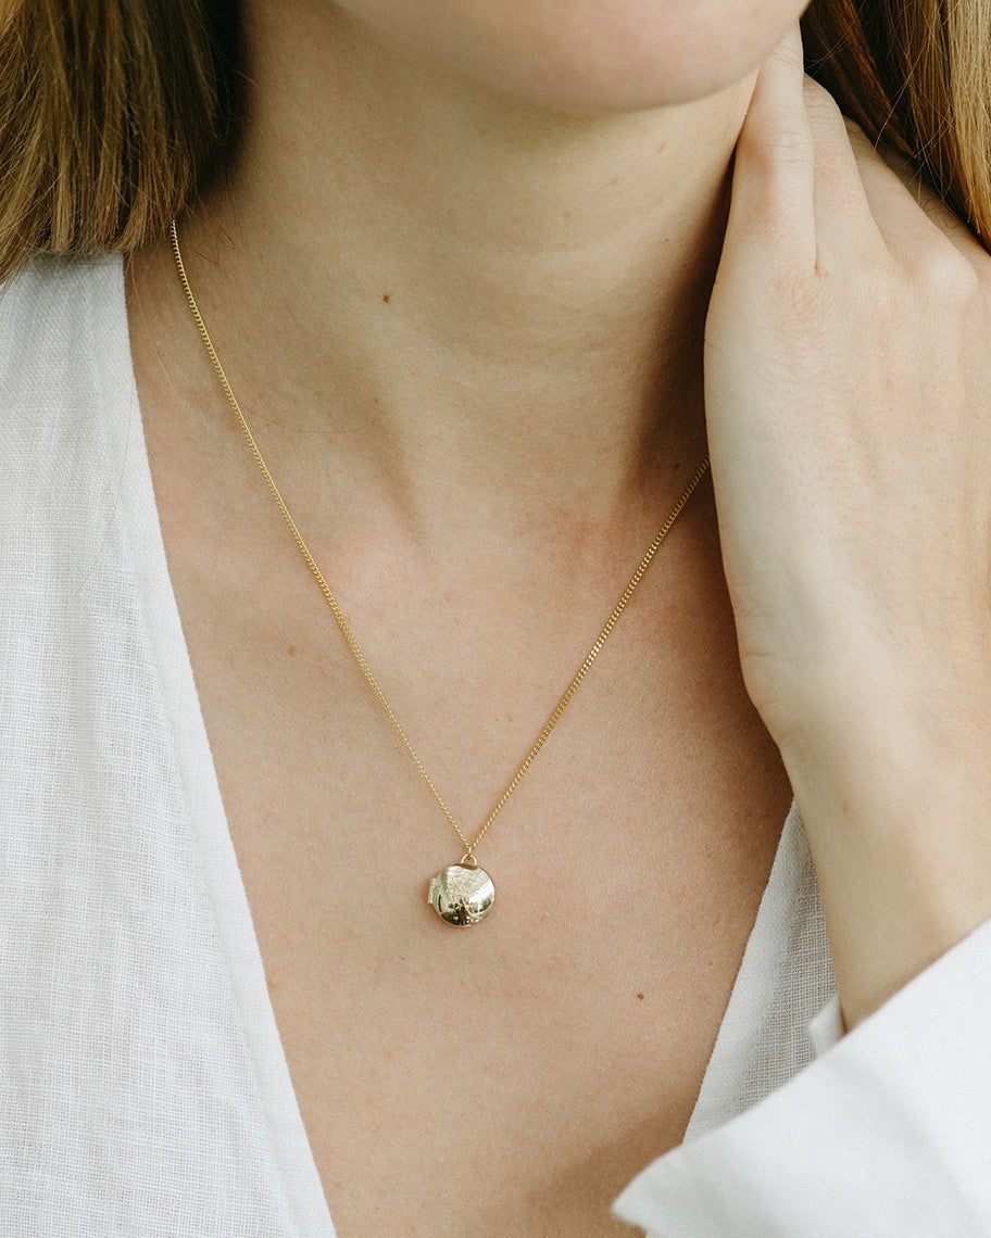
[[[815,261],[815,146],[798,24],[761,67],[736,146],[727,238],[767,235],[779,255]]]

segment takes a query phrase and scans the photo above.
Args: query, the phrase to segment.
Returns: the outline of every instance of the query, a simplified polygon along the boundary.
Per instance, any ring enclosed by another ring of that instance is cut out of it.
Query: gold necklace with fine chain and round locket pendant
[[[414,750],[413,744],[409,742],[405,730],[399,723],[399,719],[393,713],[391,706],[385,699],[385,695],[379,687],[375,676],[372,673],[372,669],[365,661],[365,656],[362,652],[358,641],[354,639],[354,633],[351,630],[351,625],[344,618],[341,607],[337,604],[337,599],[334,598],[333,593],[331,593],[330,586],[323,578],[323,573],[320,571],[313,560],[313,556],[310,553],[310,550],[302,539],[302,534],[300,532],[296,521],[290,515],[289,508],[286,506],[282,495],[279,493],[279,487],[275,484],[275,480],[271,473],[269,472],[269,467],[265,463],[265,458],[263,457],[261,451],[259,449],[259,446],[255,442],[255,437],[251,433],[248,422],[244,417],[244,413],[240,410],[240,405],[238,404],[237,396],[234,395],[230,384],[227,380],[227,374],[224,373],[223,365],[220,365],[220,359],[217,355],[217,349],[213,347],[213,340],[209,338],[207,324],[203,322],[203,316],[199,313],[199,307],[196,303],[196,297],[193,296],[192,288],[190,287],[190,280],[186,275],[186,265],[182,261],[182,250],[180,249],[178,245],[178,230],[176,228],[175,219],[172,220],[171,224],[171,236],[172,236],[172,253],[175,254],[176,258],[176,267],[178,270],[178,277],[182,282],[182,291],[186,293],[186,302],[190,306],[190,312],[193,316],[193,322],[196,323],[197,331],[199,332],[199,337],[203,340],[203,344],[207,349],[207,354],[211,359],[211,363],[213,364],[213,369],[217,373],[217,378],[220,380],[220,386],[223,387],[224,395],[227,396],[227,402],[234,411],[234,416],[238,418],[238,425],[240,426],[242,433],[248,441],[248,447],[251,451],[251,456],[254,457],[255,463],[261,470],[261,475],[265,478],[265,484],[271,491],[271,496],[275,499],[279,511],[282,515],[282,520],[285,520],[286,525],[289,526],[289,531],[292,534],[292,540],[296,542],[296,548],[302,556],[306,566],[310,568],[310,573],[312,574],[313,579],[320,586],[320,592],[323,594],[325,602],[327,603],[327,605],[331,609],[331,613],[337,620],[337,626],[341,629],[341,633],[344,640],[347,641],[348,649],[354,655],[358,666],[362,669],[362,673],[364,675],[369,687],[375,695],[375,698],[378,699],[379,704],[385,712],[385,716],[391,723],[393,730],[399,737],[400,742],[403,743],[403,747],[406,749],[406,753],[413,760],[413,764],[419,770],[420,777],[430,789],[430,794],[434,796],[434,800],[436,801],[441,812],[447,818],[447,823],[455,831],[462,847],[465,848],[465,854],[461,857],[457,864],[448,864],[446,868],[441,869],[441,872],[437,873],[434,878],[431,878],[427,893],[427,903],[434,906],[437,915],[447,924],[452,925],[478,924],[478,921],[483,920],[492,910],[492,904],[496,899],[496,886],[493,885],[492,878],[488,875],[488,873],[483,868],[478,867],[478,862],[474,858],[476,848],[488,833],[492,822],[502,812],[509,796],[519,786],[524,774],[530,768],[530,765],[533,765],[536,754],[544,747],[550,733],[557,725],[557,722],[561,714],[567,708],[569,703],[571,702],[571,698],[578,691],[581,681],[588,673],[592,662],[596,660],[596,657],[598,657],[598,654],[602,650],[602,646],[606,644],[609,633],[616,626],[619,615],[626,610],[629,599],[633,597],[637,589],[637,586],[640,583],[647,572],[647,568],[650,566],[650,561],[653,560],[654,555],[657,555],[657,552],[660,550],[664,539],[670,532],[675,520],[678,520],[678,517],[681,515],[681,511],[685,504],[691,498],[692,491],[701,482],[701,479],[705,477],[706,469],[709,468],[709,458],[705,457],[699,468],[695,470],[695,474],[689,482],[689,484],[685,487],[681,498],[671,509],[670,514],[668,515],[668,519],[660,526],[657,536],[650,542],[647,553],[638,563],[637,571],[633,573],[629,584],[626,587],[626,589],[623,589],[619,600],[616,603],[616,605],[612,609],[612,613],[609,614],[609,618],[602,625],[602,630],[600,631],[598,636],[596,636],[592,647],[585,655],[585,661],[575,672],[574,678],[567,685],[564,693],[561,695],[560,701],[551,711],[551,714],[548,718],[548,721],[544,723],[544,727],[540,734],[534,740],[534,744],[530,748],[529,753],[526,753],[526,755],[523,758],[515,774],[507,784],[507,787],[503,791],[502,796],[499,797],[498,802],[489,812],[489,815],[486,817],[484,822],[478,829],[478,833],[474,836],[473,839],[469,841],[462,833],[461,827],[455,821],[450,808],[441,799],[440,792],[434,785],[434,780],[427,774],[426,769],[424,768],[424,763],[416,755],[416,751]]]

